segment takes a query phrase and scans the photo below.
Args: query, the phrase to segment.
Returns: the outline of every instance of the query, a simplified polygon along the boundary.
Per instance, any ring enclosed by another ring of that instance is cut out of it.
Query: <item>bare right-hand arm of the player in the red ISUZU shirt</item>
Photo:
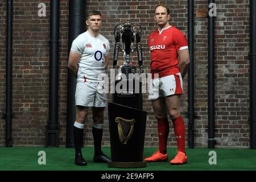
[[[188,49],[183,49],[181,51],[178,51],[177,53],[179,55],[180,73],[182,78],[184,78],[188,70],[189,52]]]

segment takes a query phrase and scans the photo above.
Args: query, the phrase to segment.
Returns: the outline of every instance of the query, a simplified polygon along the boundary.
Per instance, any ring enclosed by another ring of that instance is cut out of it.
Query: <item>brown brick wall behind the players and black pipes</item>
[[[46,17],[38,16],[38,4],[46,4]],[[142,25],[142,49],[146,73],[150,54],[147,37],[154,31],[154,8],[170,7],[171,24],[187,35],[187,1],[87,1],[87,10],[103,14],[101,34],[110,41],[113,55],[113,29],[116,23]],[[249,0],[216,1],[215,19],[215,137],[216,147],[249,147]],[[196,10],[207,9],[208,1],[195,1],[195,147],[208,144],[208,19]],[[0,2],[0,115],[5,113],[6,2]],[[49,1],[14,0],[13,28],[13,145],[44,146],[48,119],[49,81]],[[68,1],[60,1],[59,122],[60,144],[65,145],[68,57]],[[121,57],[121,55],[119,56]],[[136,54],[134,55],[136,57]],[[112,60],[112,57],[111,59]],[[134,63],[137,60],[135,59]],[[112,61],[110,62],[112,65]],[[187,129],[187,76],[181,97],[181,112]],[[109,97],[111,98],[111,97]],[[147,95],[143,96],[147,114],[145,146],[158,146],[156,119]],[[109,146],[108,113],[105,110],[103,144]],[[92,145],[92,114],[85,125],[85,145]],[[186,130],[187,131],[187,130]],[[168,145],[176,146],[170,120]],[[0,146],[5,145],[5,119],[0,119]],[[186,138],[187,145],[187,138]]]

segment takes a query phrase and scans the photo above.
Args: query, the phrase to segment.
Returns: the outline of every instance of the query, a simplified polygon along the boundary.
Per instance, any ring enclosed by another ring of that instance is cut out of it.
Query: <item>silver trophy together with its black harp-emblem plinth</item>
[[[143,148],[146,130],[146,111],[142,110],[142,84],[135,78],[136,67],[131,64],[131,54],[137,49],[139,70],[143,73],[141,35],[139,23],[118,23],[114,28],[115,48],[113,68],[117,65],[122,37],[125,63],[118,69],[119,80],[115,81],[113,102],[109,102],[109,133],[112,161],[108,167],[146,167]],[[134,39],[137,47],[132,50]],[[120,73],[120,74],[119,74]],[[131,76],[131,77],[130,77]]]

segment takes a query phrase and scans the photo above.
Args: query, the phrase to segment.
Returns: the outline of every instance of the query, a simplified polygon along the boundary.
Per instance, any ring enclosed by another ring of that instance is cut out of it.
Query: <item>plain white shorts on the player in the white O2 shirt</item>
[[[104,92],[104,82],[77,82],[76,106],[105,107],[107,95]]]

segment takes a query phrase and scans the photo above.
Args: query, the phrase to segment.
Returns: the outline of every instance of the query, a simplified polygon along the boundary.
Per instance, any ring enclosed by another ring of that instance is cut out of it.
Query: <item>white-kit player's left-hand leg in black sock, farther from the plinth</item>
[[[88,115],[88,107],[76,106],[76,121],[74,123],[74,143],[75,143],[75,164],[86,166],[86,161],[82,157],[82,141],[84,138],[84,123]]]

